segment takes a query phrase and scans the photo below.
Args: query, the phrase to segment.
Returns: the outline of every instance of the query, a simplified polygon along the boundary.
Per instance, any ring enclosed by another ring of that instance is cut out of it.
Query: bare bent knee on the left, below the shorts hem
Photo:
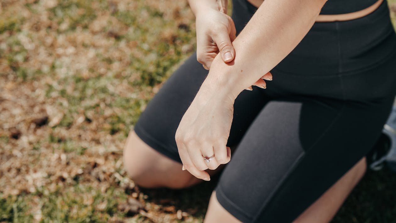
[[[182,164],[164,156],[148,146],[134,131],[128,135],[124,147],[124,168],[129,177],[141,187],[168,187],[181,189],[202,182],[182,170]],[[206,170],[213,175],[223,169],[220,165],[216,170]]]

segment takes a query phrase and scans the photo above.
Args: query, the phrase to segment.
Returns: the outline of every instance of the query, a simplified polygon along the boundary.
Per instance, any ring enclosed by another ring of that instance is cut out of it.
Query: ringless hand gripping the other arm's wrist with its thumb
[[[225,6],[219,9],[206,8],[196,13],[197,60],[207,70],[217,53],[220,52],[226,63],[235,56],[232,47],[232,41],[236,38],[234,21],[226,14],[227,1],[219,2],[225,2]]]

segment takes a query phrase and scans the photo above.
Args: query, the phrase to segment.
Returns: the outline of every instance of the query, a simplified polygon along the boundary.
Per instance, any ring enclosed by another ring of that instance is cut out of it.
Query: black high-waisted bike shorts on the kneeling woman
[[[237,33],[255,9],[234,0]],[[375,144],[396,93],[387,2],[359,19],[315,23],[271,72],[267,89],[253,86],[236,98],[227,142],[236,151],[215,188],[243,222],[293,221]],[[177,162],[176,129],[207,74],[191,55],[134,127]]]

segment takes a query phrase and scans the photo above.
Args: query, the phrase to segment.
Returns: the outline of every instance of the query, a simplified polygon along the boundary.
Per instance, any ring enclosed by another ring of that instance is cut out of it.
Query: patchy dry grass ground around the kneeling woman
[[[216,178],[147,190],[122,164],[194,27],[187,1],[0,2],[0,222],[202,222]],[[367,172],[333,222],[396,222],[395,174]]]

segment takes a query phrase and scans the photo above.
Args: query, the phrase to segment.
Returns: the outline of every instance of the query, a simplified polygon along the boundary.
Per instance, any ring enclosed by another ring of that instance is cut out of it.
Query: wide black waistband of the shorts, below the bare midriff
[[[395,50],[396,34],[384,0],[375,11],[358,19],[314,23],[276,69],[302,75],[358,72],[375,66]]]

